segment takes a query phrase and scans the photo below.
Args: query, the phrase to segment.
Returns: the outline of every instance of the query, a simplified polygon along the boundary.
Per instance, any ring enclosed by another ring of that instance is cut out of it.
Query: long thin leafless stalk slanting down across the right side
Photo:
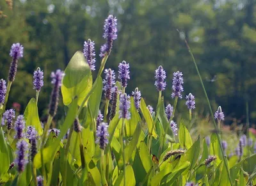
[[[209,109],[210,109],[210,112],[211,112],[211,116],[212,116],[212,121],[213,121],[213,123],[214,123],[214,127],[215,127],[215,129],[218,129],[218,127],[217,127],[217,125],[216,125],[216,122],[215,122],[215,120],[214,120],[214,115],[213,115],[213,112],[212,112],[212,107],[211,107],[211,104],[210,104],[208,95],[207,95],[206,90],[205,90],[205,87],[204,87],[204,82],[202,81],[202,77],[201,77],[200,72],[199,72],[199,70],[198,70],[198,67],[197,67],[197,65],[196,65],[196,61],[195,61],[194,55],[193,55],[193,53],[192,53],[192,51],[191,51],[191,49],[190,49],[190,47],[189,47],[189,45],[188,45],[188,42],[187,42],[186,38],[184,39],[184,42],[186,43],[186,46],[187,46],[188,51],[189,51],[189,54],[191,55],[191,57],[192,57],[192,59],[193,59],[193,63],[194,63],[194,65],[195,65],[196,72],[197,72],[197,74],[198,74],[198,77],[199,77],[199,79],[200,79],[202,88],[203,88],[203,90],[204,90],[204,94],[205,94],[205,97],[206,97],[206,99],[207,99],[207,103],[208,103],[208,106],[209,106]],[[217,134],[217,139],[218,139],[219,145],[221,146],[221,139],[220,139],[220,135],[219,135],[219,134]],[[229,172],[229,169],[228,169],[228,162],[227,162],[227,159],[225,159],[225,154],[224,154],[223,148],[221,148],[221,154],[222,154],[222,157],[223,157],[223,159],[224,159],[225,168],[227,169],[228,179],[229,179],[230,185],[232,186],[233,183],[232,183],[232,180],[231,180],[230,172]]]

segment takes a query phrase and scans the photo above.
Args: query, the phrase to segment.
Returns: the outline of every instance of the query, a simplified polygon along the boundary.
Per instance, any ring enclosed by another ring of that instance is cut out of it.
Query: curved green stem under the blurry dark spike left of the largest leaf
[[[52,116],[48,116],[48,119],[47,119],[47,123],[44,127],[44,134],[43,134],[43,137],[42,137],[42,143],[41,143],[41,149],[40,149],[40,152],[41,152],[41,164],[42,164],[42,174],[44,176],[44,185],[46,185],[46,173],[45,173],[45,166],[44,166],[44,144],[45,144],[45,140],[47,138],[47,134],[48,134],[48,130],[50,128],[50,125],[51,125],[51,122],[52,122]]]

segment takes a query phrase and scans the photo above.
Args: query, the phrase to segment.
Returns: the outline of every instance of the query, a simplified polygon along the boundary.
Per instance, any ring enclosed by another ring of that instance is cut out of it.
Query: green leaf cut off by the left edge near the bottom
[[[4,139],[3,128],[0,127],[0,159],[1,159],[1,166],[0,166],[0,180],[1,177],[7,173],[9,166],[10,166],[10,157],[9,157],[9,150]]]

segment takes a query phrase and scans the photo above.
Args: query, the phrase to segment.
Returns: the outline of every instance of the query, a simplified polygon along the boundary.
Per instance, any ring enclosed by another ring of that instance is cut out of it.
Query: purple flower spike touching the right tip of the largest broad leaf
[[[88,42],[84,42],[84,57],[88,65],[90,66],[91,70],[95,70],[95,51],[94,51],[94,42],[90,39]]]

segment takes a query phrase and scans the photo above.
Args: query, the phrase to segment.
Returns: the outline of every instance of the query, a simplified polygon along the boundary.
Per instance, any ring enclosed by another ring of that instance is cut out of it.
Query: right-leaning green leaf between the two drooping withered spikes
[[[195,164],[198,160],[200,153],[200,136],[196,140],[196,142],[189,148],[184,155],[181,156],[179,166],[184,164],[184,162],[190,162],[189,170],[192,170],[195,167]]]

